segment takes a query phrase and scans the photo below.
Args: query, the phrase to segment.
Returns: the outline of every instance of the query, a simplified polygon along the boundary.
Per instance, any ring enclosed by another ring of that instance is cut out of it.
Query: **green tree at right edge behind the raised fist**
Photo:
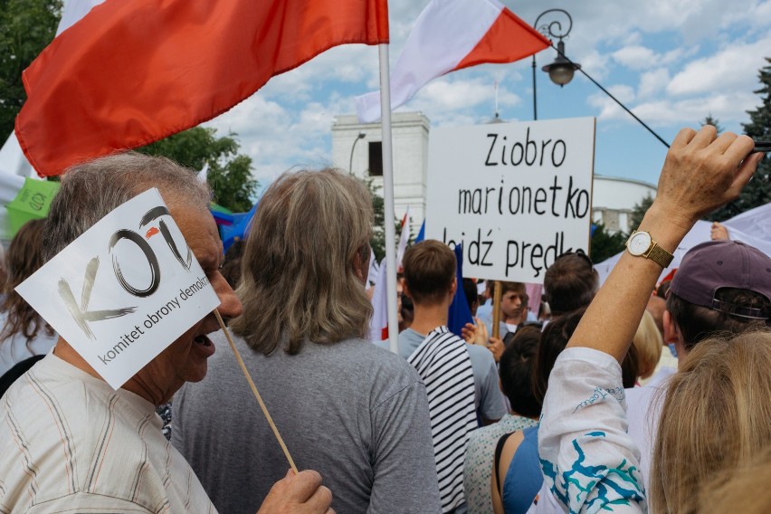
[[[766,57],[766,62],[766,66],[759,72],[762,86],[759,90],[753,91],[760,95],[760,105],[757,109],[747,110],[749,123],[742,125],[745,134],[756,141],[771,139],[771,59]],[[709,214],[708,218],[710,221],[725,221],[769,202],[771,202],[771,158],[766,154],[766,158],[757,166],[755,176],[742,190],[738,199],[720,207]]]

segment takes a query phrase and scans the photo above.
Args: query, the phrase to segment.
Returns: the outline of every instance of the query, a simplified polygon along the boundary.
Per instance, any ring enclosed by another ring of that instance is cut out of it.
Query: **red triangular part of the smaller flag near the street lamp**
[[[550,45],[541,33],[504,7],[490,30],[454,69],[462,70],[483,62],[515,62]]]

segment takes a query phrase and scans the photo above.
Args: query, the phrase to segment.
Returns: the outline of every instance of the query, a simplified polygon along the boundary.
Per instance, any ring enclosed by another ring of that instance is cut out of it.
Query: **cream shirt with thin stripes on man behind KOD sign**
[[[0,513],[215,512],[161,425],[145,399],[49,354],[0,400]]]

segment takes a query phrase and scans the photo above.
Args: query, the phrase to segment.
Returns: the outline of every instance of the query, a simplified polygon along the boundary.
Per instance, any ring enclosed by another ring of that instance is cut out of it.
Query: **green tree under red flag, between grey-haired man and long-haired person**
[[[196,170],[208,164],[207,179],[215,201],[236,213],[252,208],[257,181],[252,178],[252,158],[238,153],[235,134],[223,138],[215,129],[194,127],[138,148],[139,152],[168,157]]]

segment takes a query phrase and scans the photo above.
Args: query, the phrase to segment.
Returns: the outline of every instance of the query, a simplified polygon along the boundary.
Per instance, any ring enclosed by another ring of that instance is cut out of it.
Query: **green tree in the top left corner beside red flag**
[[[22,71],[51,43],[62,15],[60,0],[0,0],[0,138],[14,131],[27,96]]]

